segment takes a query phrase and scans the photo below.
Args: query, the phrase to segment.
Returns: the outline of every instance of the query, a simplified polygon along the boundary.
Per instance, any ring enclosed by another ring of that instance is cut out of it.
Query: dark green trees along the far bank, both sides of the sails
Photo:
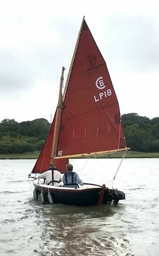
[[[137,113],[122,115],[127,147],[132,151],[159,152],[159,117],[149,119]],[[48,120],[0,122],[0,154],[41,151],[49,130]]]

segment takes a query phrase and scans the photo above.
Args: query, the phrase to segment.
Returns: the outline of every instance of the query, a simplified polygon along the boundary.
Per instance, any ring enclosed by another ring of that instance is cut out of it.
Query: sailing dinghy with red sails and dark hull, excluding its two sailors
[[[125,199],[124,192],[106,188],[105,184],[85,183],[75,189],[35,180],[38,173],[49,169],[50,164],[66,173],[69,158],[127,151],[118,99],[104,58],[84,17],[62,94],[63,73],[64,67],[54,120],[32,170],[35,176],[28,176],[34,178],[34,197],[41,198],[42,203],[117,204]]]

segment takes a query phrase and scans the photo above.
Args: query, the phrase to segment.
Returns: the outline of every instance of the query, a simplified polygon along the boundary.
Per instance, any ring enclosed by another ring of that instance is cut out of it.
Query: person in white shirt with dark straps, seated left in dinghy
[[[59,186],[59,183],[62,181],[62,175],[54,165],[51,165],[49,170],[40,174],[38,178],[46,180],[47,185],[52,186]]]

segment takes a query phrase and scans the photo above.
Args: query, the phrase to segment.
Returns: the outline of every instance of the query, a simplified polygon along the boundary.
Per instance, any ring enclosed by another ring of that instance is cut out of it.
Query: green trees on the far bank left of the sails
[[[4,119],[0,123],[0,154],[41,151],[48,134],[49,122],[36,119],[18,123]]]

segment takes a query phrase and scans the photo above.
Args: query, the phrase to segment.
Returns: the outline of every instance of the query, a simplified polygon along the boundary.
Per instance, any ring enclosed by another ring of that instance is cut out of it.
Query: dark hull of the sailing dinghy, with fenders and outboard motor
[[[44,203],[48,202],[48,187],[35,185],[35,189],[37,191],[37,198],[38,194],[42,194]],[[58,188],[58,187],[51,187],[49,186],[49,193],[52,197],[53,203],[64,203],[64,204],[72,204],[72,205],[81,205],[81,206],[90,206],[90,205],[97,205],[99,200],[99,195],[101,192],[101,188],[85,188],[85,189],[66,189],[66,188]],[[102,203],[107,204],[111,203],[114,200],[114,204],[117,204],[119,200],[125,199],[124,192],[119,190],[112,190],[105,188],[104,189],[104,196]]]

